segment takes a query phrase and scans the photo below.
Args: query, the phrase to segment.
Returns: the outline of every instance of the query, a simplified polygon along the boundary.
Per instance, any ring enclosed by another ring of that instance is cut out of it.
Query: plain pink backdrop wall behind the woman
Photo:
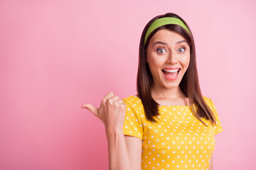
[[[174,12],[196,42],[223,132],[214,169],[255,162],[255,1],[0,1],[0,169],[107,169],[103,123],[80,108],[136,94],[139,38]]]

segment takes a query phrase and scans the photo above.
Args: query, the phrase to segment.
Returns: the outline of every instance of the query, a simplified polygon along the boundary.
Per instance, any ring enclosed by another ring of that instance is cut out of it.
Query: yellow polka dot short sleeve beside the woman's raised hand
[[[139,137],[142,140],[143,137],[143,128],[142,121],[139,118],[136,104],[132,105],[132,101],[123,99],[126,104],[125,118],[124,118],[124,135]]]

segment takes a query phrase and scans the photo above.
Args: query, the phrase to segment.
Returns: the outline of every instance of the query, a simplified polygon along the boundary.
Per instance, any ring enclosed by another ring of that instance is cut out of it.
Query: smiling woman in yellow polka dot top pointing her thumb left
[[[110,92],[100,108],[82,108],[105,125],[111,170],[213,169],[214,135],[223,128],[201,94],[191,30],[175,13],[142,32],[137,95]]]

